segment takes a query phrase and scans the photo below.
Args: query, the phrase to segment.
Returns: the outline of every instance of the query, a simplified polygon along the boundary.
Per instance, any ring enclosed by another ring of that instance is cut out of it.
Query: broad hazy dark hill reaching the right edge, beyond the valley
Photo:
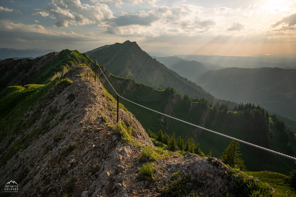
[[[226,68],[209,71],[197,83],[215,97],[251,102],[296,119],[296,70]]]

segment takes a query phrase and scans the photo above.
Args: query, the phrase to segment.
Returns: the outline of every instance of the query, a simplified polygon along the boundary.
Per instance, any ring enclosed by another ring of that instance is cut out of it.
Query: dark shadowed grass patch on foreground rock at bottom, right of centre
[[[178,171],[173,173],[171,180],[161,189],[161,193],[164,196],[189,196],[202,185],[203,183],[197,178]]]

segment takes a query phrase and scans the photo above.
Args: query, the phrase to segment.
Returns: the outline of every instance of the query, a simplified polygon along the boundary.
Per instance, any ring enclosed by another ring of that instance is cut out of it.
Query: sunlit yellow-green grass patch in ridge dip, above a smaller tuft
[[[145,147],[141,152],[140,162],[153,162],[157,159],[170,158],[167,152],[157,149],[152,146]]]

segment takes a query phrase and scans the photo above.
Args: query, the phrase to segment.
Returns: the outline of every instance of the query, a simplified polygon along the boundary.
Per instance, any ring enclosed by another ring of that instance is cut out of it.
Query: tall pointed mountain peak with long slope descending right
[[[124,43],[102,46],[86,53],[92,60],[97,58],[98,63],[115,76],[131,78],[156,89],[174,87],[182,95],[186,93],[192,97],[215,100],[201,87],[179,76],[142,51],[136,42],[127,40]]]

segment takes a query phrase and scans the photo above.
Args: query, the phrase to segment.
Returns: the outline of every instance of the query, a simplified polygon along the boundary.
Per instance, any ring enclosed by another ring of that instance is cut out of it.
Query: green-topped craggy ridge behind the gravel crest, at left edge
[[[8,86],[25,84],[46,84],[52,78],[68,71],[69,66],[90,65],[91,60],[85,53],[63,50],[35,59],[6,59],[0,62],[1,91]]]

